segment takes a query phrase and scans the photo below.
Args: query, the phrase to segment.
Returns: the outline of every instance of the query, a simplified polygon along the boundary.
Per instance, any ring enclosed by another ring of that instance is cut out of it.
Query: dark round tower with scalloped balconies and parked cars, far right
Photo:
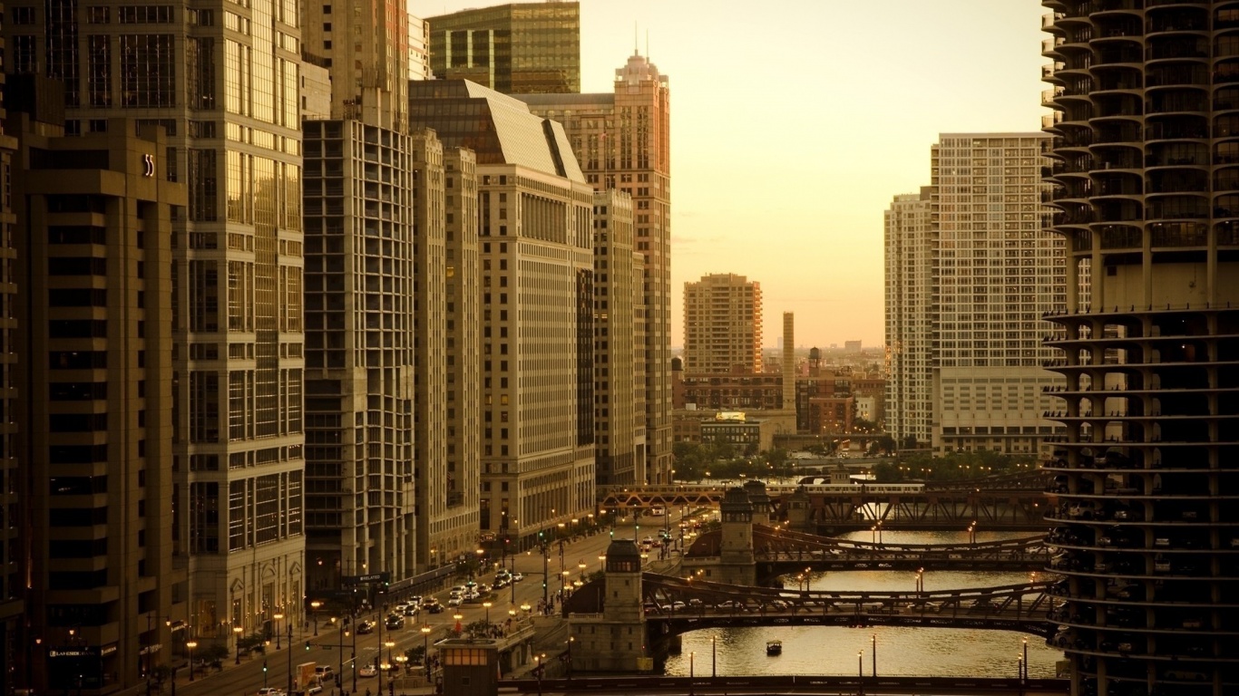
[[[1052,643],[1073,695],[1237,694],[1239,2],[1044,6]]]

